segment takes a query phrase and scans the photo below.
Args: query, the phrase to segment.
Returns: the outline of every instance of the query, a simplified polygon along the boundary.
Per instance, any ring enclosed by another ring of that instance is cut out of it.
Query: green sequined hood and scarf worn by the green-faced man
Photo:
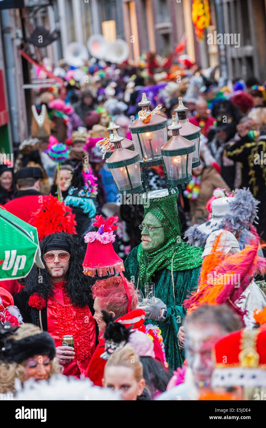
[[[140,285],[148,282],[152,275],[161,269],[188,270],[202,264],[202,252],[199,247],[190,247],[180,237],[181,224],[178,217],[177,195],[150,199],[149,208],[144,208],[144,217],[150,212],[164,226],[164,246],[154,253],[147,253],[142,244],[137,249]]]

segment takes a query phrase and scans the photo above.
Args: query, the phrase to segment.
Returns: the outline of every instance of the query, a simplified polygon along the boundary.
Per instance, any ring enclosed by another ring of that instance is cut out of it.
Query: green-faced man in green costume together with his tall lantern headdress
[[[97,146],[104,155],[108,150],[113,151],[106,164],[120,192],[143,193],[144,189],[148,192],[145,199],[149,199],[149,205],[144,208],[140,224],[142,242],[129,253],[125,275],[128,279],[134,277],[137,288],[143,292],[147,283],[155,283],[156,298],[147,302],[146,318],[155,321],[162,336],[167,338],[167,361],[176,369],[183,362],[176,340],[185,316],[182,301],[187,292],[194,290],[202,264],[202,250],[181,239],[177,207],[178,193],[192,178],[195,137],[199,141],[199,133],[193,129],[192,138],[191,133],[184,131],[188,126],[184,111],[179,124],[173,117],[169,127],[172,135],[167,141],[167,119],[158,114],[161,106],[150,111],[146,94],[142,94],[138,105],[142,107],[138,117],[129,125],[134,151],[125,148],[125,140],[117,133],[119,128],[113,121],[108,127],[110,139],[98,142]],[[149,191],[145,169],[157,165],[163,167],[167,188]]]

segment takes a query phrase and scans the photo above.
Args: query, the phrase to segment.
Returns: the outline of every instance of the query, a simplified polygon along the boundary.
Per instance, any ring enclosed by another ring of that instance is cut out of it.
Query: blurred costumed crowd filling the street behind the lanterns
[[[183,48],[181,43],[177,51]],[[264,232],[266,162],[261,152],[265,152],[266,144],[266,92],[263,82],[252,76],[246,82],[237,77],[225,82],[218,68],[201,70],[189,56],[178,53],[171,60],[149,54],[138,66],[128,60],[117,65],[95,59],[83,67],[67,65],[64,60],[56,67],[48,59],[44,63],[64,79],[66,94],[63,100],[56,86],[39,88],[35,94],[31,135],[20,144],[14,168],[1,166],[2,205],[14,198],[13,173],[21,167],[41,168],[40,194],[43,195],[57,196],[60,177],[64,199],[73,169],[81,161],[87,161],[97,179],[98,193],[93,196],[96,213],[119,216],[119,253],[124,258],[140,243],[138,225],[143,206],[127,205],[123,199],[121,206],[119,191],[96,143],[108,137],[110,116],[120,126],[120,136],[132,140],[129,125],[137,117],[137,103],[144,92],[151,101],[151,109],[159,104],[163,106],[160,114],[168,119],[169,125],[181,96],[188,108],[188,120],[201,128],[202,163],[193,169],[193,180],[178,199],[182,233],[188,226],[205,223],[209,214],[206,204],[217,187],[227,192],[249,187],[260,201],[258,232]],[[45,77],[42,69],[35,67],[35,72],[40,81]],[[46,110],[42,110],[44,106]],[[43,111],[47,111],[46,116]],[[38,117],[44,117],[41,131]],[[58,143],[62,143],[65,151],[59,175],[58,159],[49,152],[49,148]],[[165,187],[161,166],[149,168],[148,177],[151,190]],[[80,231],[83,215],[94,215],[86,209],[85,213],[80,209],[79,214]]]

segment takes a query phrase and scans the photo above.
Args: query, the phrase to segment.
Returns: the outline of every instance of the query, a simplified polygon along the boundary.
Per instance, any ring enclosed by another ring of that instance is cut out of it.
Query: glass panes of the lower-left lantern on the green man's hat
[[[119,168],[111,168],[111,173],[120,191],[130,190],[132,187],[135,188],[141,185],[139,160],[137,160],[136,163],[128,165],[127,167],[120,166]],[[130,185],[130,180],[132,187]]]

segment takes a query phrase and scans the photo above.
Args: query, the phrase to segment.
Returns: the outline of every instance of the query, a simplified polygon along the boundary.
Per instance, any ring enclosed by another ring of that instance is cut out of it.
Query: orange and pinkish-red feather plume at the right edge
[[[199,289],[184,300],[187,314],[197,309],[199,306],[210,304],[220,305],[227,303],[240,315],[245,312],[239,309],[235,302],[255,274],[266,272],[266,259],[257,254],[259,248],[259,236],[256,229],[252,227],[254,239],[250,244],[236,254],[224,255],[218,248],[220,235],[213,244],[213,251],[205,257],[199,277]]]

